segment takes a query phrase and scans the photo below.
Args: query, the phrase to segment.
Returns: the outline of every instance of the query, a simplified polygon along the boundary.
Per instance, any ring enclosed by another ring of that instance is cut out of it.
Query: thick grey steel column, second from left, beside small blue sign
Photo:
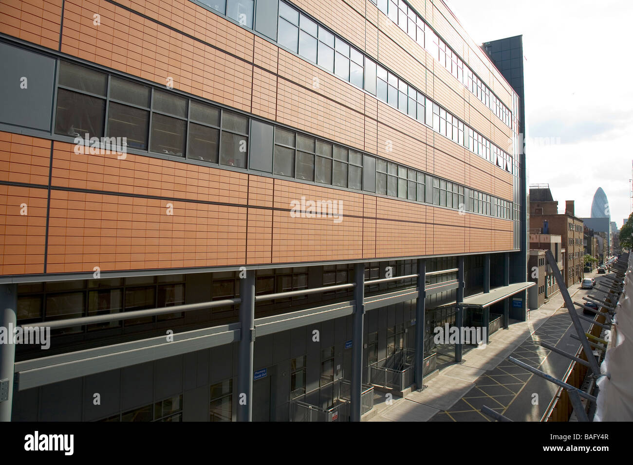
[[[253,347],[255,342],[255,271],[239,280],[242,335],[237,363],[237,421],[253,420]]]

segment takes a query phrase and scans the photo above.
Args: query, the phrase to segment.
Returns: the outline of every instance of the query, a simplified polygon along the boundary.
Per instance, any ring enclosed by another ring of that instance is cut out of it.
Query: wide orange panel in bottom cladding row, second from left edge
[[[48,273],[246,261],[246,208],[51,191]]]

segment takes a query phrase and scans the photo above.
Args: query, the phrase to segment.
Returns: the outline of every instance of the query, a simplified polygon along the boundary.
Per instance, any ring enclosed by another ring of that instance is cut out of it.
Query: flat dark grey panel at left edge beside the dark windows
[[[0,122],[48,131],[55,60],[0,42]]]

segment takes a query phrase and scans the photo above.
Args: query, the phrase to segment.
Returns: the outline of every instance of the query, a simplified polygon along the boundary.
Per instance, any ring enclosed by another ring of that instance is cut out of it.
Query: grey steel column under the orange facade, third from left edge
[[[352,330],[352,380],[349,406],[351,421],[360,421],[363,394],[363,325],[365,319],[365,264],[354,264],[354,316]]]

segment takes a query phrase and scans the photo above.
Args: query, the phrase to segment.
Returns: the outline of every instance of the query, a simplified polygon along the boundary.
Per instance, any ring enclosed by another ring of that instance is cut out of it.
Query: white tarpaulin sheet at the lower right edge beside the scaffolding
[[[611,342],[600,366],[598,407],[594,421],[633,421],[633,254],[624,278],[624,293],[615,309]]]

